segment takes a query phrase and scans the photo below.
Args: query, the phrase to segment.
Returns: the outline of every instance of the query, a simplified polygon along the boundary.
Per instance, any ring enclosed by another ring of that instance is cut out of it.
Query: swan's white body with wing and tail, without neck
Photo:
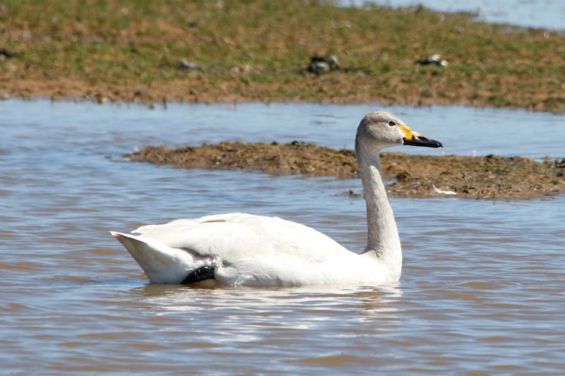
[[[180,283],[198,267],[230,285],[379,284],[398,279],[369,253],[276,217],[230,213],[143,226],[122,242],[149,279]],[[130,243],[130,244],[128,244]]]

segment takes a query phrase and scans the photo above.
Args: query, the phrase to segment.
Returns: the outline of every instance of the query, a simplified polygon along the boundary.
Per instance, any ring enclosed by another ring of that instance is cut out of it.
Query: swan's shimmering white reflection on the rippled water
[[[148,319],[184,320],[189,331],[194,335],[196,330],[209,345],[282,342],[291,348],[297,339],[326,341],[393,332],[400,325],[395,305],[402,297],[398,284],[270,289],[147,284],[131,293]]]

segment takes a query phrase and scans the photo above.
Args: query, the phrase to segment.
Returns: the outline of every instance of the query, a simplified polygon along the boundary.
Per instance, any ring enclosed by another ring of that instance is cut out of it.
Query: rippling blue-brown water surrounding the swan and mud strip
[[[360,250],[364,202],[343,195],[359,181],[119,157],[144,144],[234,139],[351,147],[369,109],[0,102],[0,373],[560,372],[564,197],[391,200],[405,260],[387,288],[152,285],[107,232],[243,211]],[[448,153],[564,156],[547,142],[563,139],[562,115],[389,109]]]

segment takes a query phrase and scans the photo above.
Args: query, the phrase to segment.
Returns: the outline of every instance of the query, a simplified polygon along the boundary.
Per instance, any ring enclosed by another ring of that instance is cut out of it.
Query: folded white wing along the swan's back
[[[219,214],[142,226],[133,234],[230,263],[254,258],[323,263],[350,251],[308,226],[278,217]]]

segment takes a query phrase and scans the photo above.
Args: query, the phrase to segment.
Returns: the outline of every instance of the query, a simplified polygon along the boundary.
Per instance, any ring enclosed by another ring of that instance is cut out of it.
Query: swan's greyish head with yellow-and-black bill
[[[441,142],[412,131],[404,121],[390,112],[371,112],[359,123],[355,149],[362,147],[366,152],[378,152],[384,147],[398,145],[443,147]]]

